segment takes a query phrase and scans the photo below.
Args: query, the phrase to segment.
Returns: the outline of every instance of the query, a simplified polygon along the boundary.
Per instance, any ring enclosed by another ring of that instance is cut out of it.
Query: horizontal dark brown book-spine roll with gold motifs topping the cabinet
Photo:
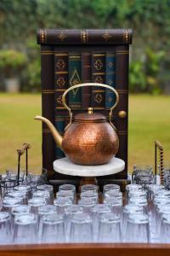
[[[133,31],[127,29],[39,29],[37,44],[132,44]]]

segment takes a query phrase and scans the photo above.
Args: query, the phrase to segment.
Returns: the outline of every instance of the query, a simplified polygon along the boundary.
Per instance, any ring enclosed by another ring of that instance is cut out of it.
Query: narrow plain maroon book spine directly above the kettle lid
[[[91,82],[91,54],[82,53],[82,83]],[[90,86],[82,87],[82,109],[91,107],[91,90]]]

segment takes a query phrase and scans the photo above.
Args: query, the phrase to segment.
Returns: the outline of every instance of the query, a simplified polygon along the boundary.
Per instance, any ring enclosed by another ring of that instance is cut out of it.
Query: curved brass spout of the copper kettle
[[[48,126],[49,130],[51,131],[51,133],[52,133],[52,135],[54,137],[55,143],[59,146],[59,148],[61,148],[61,143],[62,143],[63,138],[59,134],[59,131],[57,131],[55,129],[54,125],[48,119],[45,119],[44,117],[39,116],[39,115],[35,116],[34,119],[40,120],[40,121],[44,122]]]

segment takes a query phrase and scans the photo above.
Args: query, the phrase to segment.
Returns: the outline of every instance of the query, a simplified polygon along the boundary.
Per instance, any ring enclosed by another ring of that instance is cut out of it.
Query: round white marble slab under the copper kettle
[[[100,166],[79,166],[71,163],[68,158],[54,160],[54,171],[66,175],[80,177],[97,177],[122,172],[125,162],[119,158],[113,157],[111,161]]]

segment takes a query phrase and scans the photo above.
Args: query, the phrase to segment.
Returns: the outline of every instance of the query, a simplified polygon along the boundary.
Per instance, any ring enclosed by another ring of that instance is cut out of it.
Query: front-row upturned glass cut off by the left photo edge
[[[10,214],[8,212],[0,212],[0,244],[9,244],[10,242]]]

